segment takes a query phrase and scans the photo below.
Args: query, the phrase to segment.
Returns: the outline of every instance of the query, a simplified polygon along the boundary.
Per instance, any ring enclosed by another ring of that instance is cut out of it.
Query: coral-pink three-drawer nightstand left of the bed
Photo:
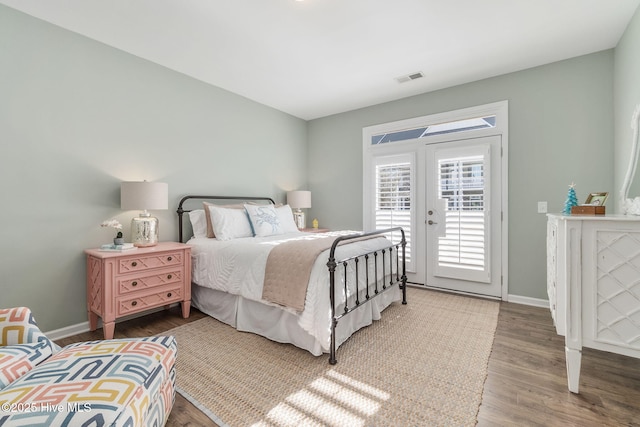
[[[89,329],[102,318],[104,338],[112,339],[121,317],[182,304],[182,317],[191,309],[191,247],[162,242],[122,252],[87,249],[87,311]]]

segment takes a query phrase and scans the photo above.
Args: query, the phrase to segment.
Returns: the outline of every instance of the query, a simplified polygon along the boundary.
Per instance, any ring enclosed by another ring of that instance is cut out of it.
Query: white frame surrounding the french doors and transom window
[[[371,138],[374,135],[400,131],[403,129],[412,129],[425,125],[435,125],[439,123],[447,123],[457,120],[464,120],[473,117],[483,117],[488,115],[495,115],[496,126],[493,128],[471,130],[465,132],[456,132],[442,135],[433,135],[428,138],[417,138],[413,140],[398,141],[389,144],[381,144],[378,146],[371,145]],[[389,123],[382,123],[372,126],[367,126],[362,129],[363,140],[363,225],[371,223],[371,161],[372,158],[386,153],[416,153],[416,183],[417,185],[424,185],[421,183],[425,181],[425,142],[437,143],[453,141],[465,138],[475,138],[482,136],[494,136],[499,135],[502,140],[501,150],[501,187],[502,187],[502,207],[501,207],[501,281],[502,281],[502,300],[508,301],[509,299],[509,102],[499,101],[490,104],[484,104],[469,108],[463,108],[453,111],[446,111],[442,113],[431,114],[427,116],[414,117],[405,120],[399,120]],[[416,188],[417,197],[422,199],[416,200],[416,229],[413,231],[414,236],[426,235],[426,212],[425,212],[425,200],[424,189]],[[416,259],[419,257],[426,257],[426,239],[416,239],[415,246],[413,248]],[[423,267],[421,267],[423,265]],[[409,281],[418,285],[424,286],[426,272],[426,262],[417,262],[416,271],[409,275]]]

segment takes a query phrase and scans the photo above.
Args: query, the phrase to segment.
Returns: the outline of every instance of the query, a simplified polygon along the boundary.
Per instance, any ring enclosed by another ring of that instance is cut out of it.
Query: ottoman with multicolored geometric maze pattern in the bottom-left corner
[[[162,427],[176,351],[170,336],[70,344],[0,390],[0,427]]]

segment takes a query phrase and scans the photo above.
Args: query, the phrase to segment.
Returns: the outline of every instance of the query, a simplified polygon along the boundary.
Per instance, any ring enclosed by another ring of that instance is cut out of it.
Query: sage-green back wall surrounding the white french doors
[[[509,294],[546,299],[546,216],[568,185],[613,191],[613,50],[363,108],[309,123],[313,216],[362,227],[362,128],[509,101]]]

